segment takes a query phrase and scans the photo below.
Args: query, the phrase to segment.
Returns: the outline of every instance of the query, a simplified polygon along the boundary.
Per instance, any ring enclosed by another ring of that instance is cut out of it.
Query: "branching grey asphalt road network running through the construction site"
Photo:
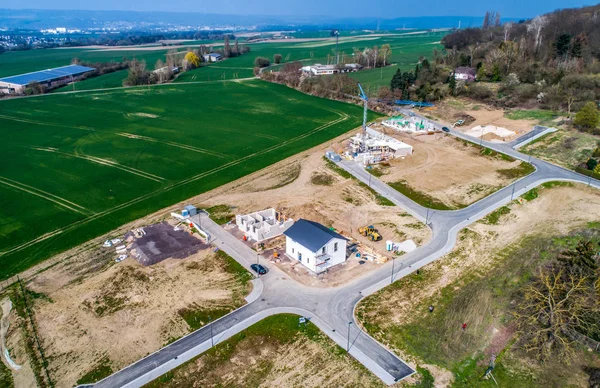
[[[442,124],[438,124],[439,128],[441,126]],[[386,384],[393,384],[413,374],[414,370],[405,362],[360,330],[354,316],[354,308],[363,297],[450,252],[462,228],[544,182],[573,181],[600,188],[598,180],[531,158],[514,150],[510,143],[481,141],[455,130],[451,130],[450,134],[528,161],[535,166],[536,171],[464,209],[439,211],[428,210],[411,201],[353,161],[339,162],[340,167],[370,185],[398,207],[426,222],[432,230],[432,239],[426,245],[402,256],[402,259],[390,261],[377,270],[336,288],[317,289],[295,282],[269,261],[257,258],[256,252],[212,222],[206,214],[201,214],[202,227],[211,235],[211,242],[215,246],[248,269],[250,264],[257,260],[269,268],[269,273],[260,279],[263,285],[262,294],[250,304],[116,372],[95,386],[139,387],[206,351],[213,342],[223,341],[268,315],[282,312],[292,312],[311,319],[338,345],[343,348],[349,347],[350,354]]]

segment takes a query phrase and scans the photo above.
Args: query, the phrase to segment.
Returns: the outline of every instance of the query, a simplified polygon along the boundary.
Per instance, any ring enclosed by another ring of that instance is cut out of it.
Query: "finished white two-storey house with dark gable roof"
[[[346,261],[347,239],[317,222],[300,219],[283,234],[285,254],[315,273]]]

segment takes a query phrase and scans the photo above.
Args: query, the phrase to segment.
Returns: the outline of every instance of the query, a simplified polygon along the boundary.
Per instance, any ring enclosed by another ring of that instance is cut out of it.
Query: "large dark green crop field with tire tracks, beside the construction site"
[[[259,80],[0,103],[0,278],[357,127]]]

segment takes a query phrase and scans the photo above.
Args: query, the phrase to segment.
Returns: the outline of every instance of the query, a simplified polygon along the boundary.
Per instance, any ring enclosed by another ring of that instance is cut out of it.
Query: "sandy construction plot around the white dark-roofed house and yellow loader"
[[[334,148],[339,146],[335,144]],[[412,216],[394,206],[378,205],[373,195],[361,188],[356,181],[344,179],[329,169],[323,161],[325,149],[318,149],[299,160],[290,160],[287,167],[267,172],[229,194],[215,196],[203,202],[203,207],[226,204],[233,207],[236,214],[274,207],[295,220],[305,218],[334,227],[340,234],[388,258],[391,258],[392,254],[385,251],[387,239],[396,242],[412,239],[417,245],[429,240],[429,229]],[[293,182],[278,187],[280,182],[287,182],[291,175],[298,174],[298,168],[299,175]],[[329,177],[331,185],[313,184],[311,180],[315,175]],[[269,189],[270,187],[275,188]],[[369,241],[359,234],[358,229],[366,225],[378,228],[382,240]],[[279,246],[282,248],[283,244]],[[351,257],[344,265],[319,276],[286,259],[276,264],[299,282],[315,287],[331,287],[361,276],[378,266],[371,262],[359,265],[358,262],[356,257]]]

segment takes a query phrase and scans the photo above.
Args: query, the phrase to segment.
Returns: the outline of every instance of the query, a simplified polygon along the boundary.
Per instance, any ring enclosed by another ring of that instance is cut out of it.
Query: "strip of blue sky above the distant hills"
[[[337,17],[483,16],[495,10],[504,17],[529,18],[558,8],[593,5],[573,0],[0,0],[0,8],[203,12],[237,15]],[[26,4],[26,6],[24,6]],[[425,6],[422,6],[425,5]]]

